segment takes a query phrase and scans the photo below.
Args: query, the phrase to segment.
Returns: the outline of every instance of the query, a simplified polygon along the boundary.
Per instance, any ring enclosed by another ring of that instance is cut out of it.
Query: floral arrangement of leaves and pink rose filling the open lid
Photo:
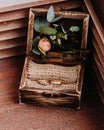
[[[51,6],[46,15],[35,17],[32,52],[39,57],[57,52],[69,61],[84,60],[89,51],[81,48],[82,27],[83,20],[55,16]]]

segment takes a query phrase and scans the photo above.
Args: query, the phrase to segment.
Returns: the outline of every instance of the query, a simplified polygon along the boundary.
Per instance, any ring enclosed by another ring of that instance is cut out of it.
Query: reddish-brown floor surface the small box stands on
[[[24,56],[0,60],[0,130],[104,130],[104,105],[86,67],[81,109],[20,105]]]

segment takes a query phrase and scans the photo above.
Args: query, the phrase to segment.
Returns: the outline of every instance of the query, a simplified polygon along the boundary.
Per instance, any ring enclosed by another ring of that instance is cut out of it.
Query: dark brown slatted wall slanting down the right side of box
[[[92,75],[104,103],[104,28],[90,0],[84,0],[83,10],[90,14],[89,48]],[[101,4],[101,3],[100,3]],[[103,3],[102,3],[103,4]]]

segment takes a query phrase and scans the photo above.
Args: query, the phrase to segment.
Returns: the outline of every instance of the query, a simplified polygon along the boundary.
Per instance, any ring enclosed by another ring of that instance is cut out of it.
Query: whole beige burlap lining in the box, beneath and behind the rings
[[[30,60],[27,70],[25,86],[28,88],[41,89],[43,92],[52,90],[76,92],[80,74],[80,65],[65,67],[53,64],[37,64]],[[62,81],[60,84],[52,84],[53,80]],[[40,84],[38,81],[47,81],[47,84]]]

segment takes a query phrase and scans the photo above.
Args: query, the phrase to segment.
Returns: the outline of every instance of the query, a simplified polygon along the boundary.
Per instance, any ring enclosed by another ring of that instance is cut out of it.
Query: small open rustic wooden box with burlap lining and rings
[[[35,105],[80,108],[84,61],[69,60],[59,52],[48,52],[46,57],[37,57],[32,53],[35,35],[35,17],[44,16],[47,10],[31,8],[29,12],[27,56],[24,63],[19,87],[20,103]],[[62,17],[65,26],[81,21],[80,48],[87,46],[89,15],[82,12],[55,12]],[[73,21],[72,21],[73,20]]]

